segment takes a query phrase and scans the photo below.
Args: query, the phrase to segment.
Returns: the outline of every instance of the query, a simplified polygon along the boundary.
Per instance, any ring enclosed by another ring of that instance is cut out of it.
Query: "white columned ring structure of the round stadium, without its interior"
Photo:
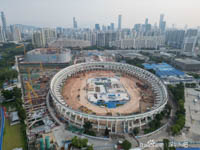
[[[97,116],[71,109],[61,95],[61,90],[65,81],[68,77],[92,70],[122,72],[148,82],[156,95],[153,107],[147,112],[126,116]],[[84,122],[90,120],[93,122],[93,128],[97,129],[97,131],[104,130],[108,127],[111,133],[129,132],[135,127],[142,127],[151,121],[156,114],[160,113],[168,101],[167,89],[158,77],[141,68],[116,62],[81,63],[67,67],[59,71],[52,78],[49,94],[59,117],[64,118],[64,120],[78,127],[83,127]]]

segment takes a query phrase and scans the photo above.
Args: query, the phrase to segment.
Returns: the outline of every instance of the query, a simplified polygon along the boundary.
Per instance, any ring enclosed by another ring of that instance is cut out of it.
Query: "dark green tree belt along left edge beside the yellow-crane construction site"
[[[16,55],[23,55],[24,54],[24,48],[17,48],[17,44],[14,43],[6,43],[3,44],[0,47],[0,89],[2,89],[2,85],[5,82],[8,82],[9,84],[12,82],[13,79],[17,78],[17,71],[11,69],[11,67],[15,63],[15,56]],[[32,50],[33,45],[28,44],[26,45],[26,51]],[[21,89],[14,88],[11,91],[3,90],[1,91],[2,95],[6,99],[14,99],[13,102],[4,103],[3,105],[11,106],[13,105],[16,107],[18,111],[18,115],[21,120],[21,132],[23,133],[24,141],[25,141],[25,148],[27,148],[27,135],[26,135],[26,124],[24,123],[26,119],[26,112],[23,108],[23,102],[21,99]]]

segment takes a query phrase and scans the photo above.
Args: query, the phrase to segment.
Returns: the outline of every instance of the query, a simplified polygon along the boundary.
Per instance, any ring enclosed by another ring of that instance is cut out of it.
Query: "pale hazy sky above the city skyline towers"
[[[122,14],[122,27],[144,23],[154,24],[165,14],[167,26],[200,26],[200,0],[0,0],[7,24],[42,27],[72,27],[76,17],[79,27],[94,27],[95,23],[117,26]]]

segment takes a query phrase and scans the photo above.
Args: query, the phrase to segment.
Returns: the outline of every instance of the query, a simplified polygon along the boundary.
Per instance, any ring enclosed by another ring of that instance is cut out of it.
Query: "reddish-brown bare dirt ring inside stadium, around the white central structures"
[[[119,73],[117,73],[119,74]],[[120,77],[120,82],[128,92],[130,96],[130,101],[126,104],[119,106],[117,108],[106,108],[106,107],[99,107],[90,103],[87,100],[87,92],[85,90],[87,80],[89,78],[95,77],[114,77],[115,73],[112,71],[91,71],[84,74],[79,74],[76,77],[69,78],[66,81],[66,84],[63,87],[62,95],[66,100],[66,103],[69,107],[84,111],[85,113],[89,114],[96,114],[96,115],[129,115],[136,112],[144,112],[146,111],[147,107],[151,107],[153,104],[148,101],[143,102],[142,91],[140,88],[136,86],[136,82],[141,81],[137,80],[136,78],[124,76]],[[147,97],[152,95],[151,90],[145,93]],[[143,94],[144,95],[144,94]],[[151,100],[150,100],[151,101]]]

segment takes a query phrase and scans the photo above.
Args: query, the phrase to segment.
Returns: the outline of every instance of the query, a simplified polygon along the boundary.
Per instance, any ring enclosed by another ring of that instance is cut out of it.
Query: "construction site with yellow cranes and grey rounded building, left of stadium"
[[[70,61],[70,51],[50,48],[36,49],[17,59],[29,145],[58,125],[49,114],[46,96],[51,78]]]

